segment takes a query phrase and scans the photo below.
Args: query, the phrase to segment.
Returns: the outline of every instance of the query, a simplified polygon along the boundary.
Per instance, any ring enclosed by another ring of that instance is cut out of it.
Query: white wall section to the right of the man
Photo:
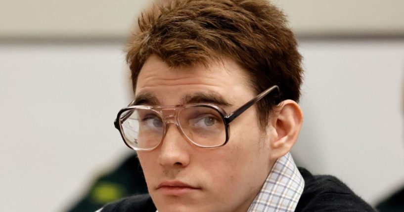
[[[307,41],[294,153],[370,203],[404,186],[404,40]]]

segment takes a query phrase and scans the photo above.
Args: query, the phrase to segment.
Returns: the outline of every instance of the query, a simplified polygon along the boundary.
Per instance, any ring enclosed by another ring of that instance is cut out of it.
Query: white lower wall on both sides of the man
[[[295,159],[375,203],[404,184],[404,41],[301,41]],[[121,43],[0,45],[0,211],[61,211],[130,151]]]

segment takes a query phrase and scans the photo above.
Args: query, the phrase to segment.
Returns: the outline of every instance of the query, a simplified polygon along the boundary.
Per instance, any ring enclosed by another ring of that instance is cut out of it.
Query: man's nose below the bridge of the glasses
[[[167,125],[168,129],[164,140],[158,147],[158,163],[164,167],[184,168],[190,161],[190,148],[192,148],[180,133],[175,124]]]

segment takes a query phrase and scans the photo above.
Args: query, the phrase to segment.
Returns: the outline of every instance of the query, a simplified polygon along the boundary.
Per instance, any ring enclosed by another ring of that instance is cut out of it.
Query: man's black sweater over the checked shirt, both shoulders
[[[305,188],[295,212],[374,212],[343,182],[299,168]],[[150,196],[137,195],[106,205],[101,212],[156,212]]]

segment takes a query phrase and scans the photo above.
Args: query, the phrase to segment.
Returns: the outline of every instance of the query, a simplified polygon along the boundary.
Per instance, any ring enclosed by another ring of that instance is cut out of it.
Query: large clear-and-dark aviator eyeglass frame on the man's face
[[[185,136],[188,141],[190,141],[192,144],[194,144],[194,145],[196,145],[196,146],[199,146],[199,147],[202,147],[202,148],[215,148],[215,147],[220,147],[220,146],[224,146],[224,145],[227,143],[228,139],[229,139],[229,134],[230,134],[229,124],[230,124],[235,118],[237,118],[238,116],[240,116],[244,111],[246,111],[248,108],[250,108],[251,106],[253,106],[255,103],[257,103],[259,100],[261,100],[262,98],[264,98],[266,95],[268,95],[268,94],[269,94],[271,91],[273,91],[273,90],[277,90],[277,91],[278,91],[277,97],[279,98],[279,93],[280,93],[279,87],[278,87],[277,85],[273,85],[273,86],[271,86],[271,87],[269,87],[268,89],[264,90],[262,93],[258,94],[257,96],[255,96],[254,98],[252,98],[250,101],[248,101],[247,103],[245,103],[244,105],[242,105],[241,107],[239,107],[238,109],[236,109],[235,111],[233,111],[232,113],[229,113],[229,114],[226,114],[226,112],[224,111],[224,109],[222,109],[221,107],[219,107],[219,106],[217,106],[217,105],[214,105],[214,104],[204,104],[204,103],[202,103],[202,104],[186,104],[186,105],[175,105],[175,106],[143,106],[143,105],[133,105],[134,102],[131,102],[131,104],[129,104],[129,106],[127,106],[127,107],[125,107],[125,108],[122,108],[122,109],[118,112],[117,118],[116,118],[115,121],[114,121],[114,126],[115,126],[116,129],[119,130],[122,139],[124,140],[125,144],[126,144],[129,148],[134,149],[134,150],[136,150],[136,151],[150,151],[150,150],[153,150],[153,149],[157,148],[157,147],[161,144],[161,142],[164,140],[164,137],[165,137],[165,135],[166,135],[166,124],[164,125],[164,128],[163,128],[163,137],[161,138],[161,141],[159,142],[159,144],[158,144],[156,147],[153,147],[153,148],[150,148],[150,149],[137,149],[136,147],[134,147],[134,146],[132,146],[132,145],[130,144],[131,142],[127,141],[127,138],[125,137],[124,132],[123,132],[123,128],[122,128],[122,122],[124,122],[127,118],[129,118],[132,113],[129,113],[128,115],[126,115],[125,117],[123,117],[123,118],[120,119],[120,116],[121,116],[123,113],[125,113],[126,111],[129,111],[129,110],[136,109],[136,108],[139,108],[139,109],[150,109],[150,110],[156,112],[157,114],[159,114],[159,116],[160,116],[161,118],[164,118],[164,116],[162,116],[162,114],[161,114],[161,112],[160,112],[159,110],[162,110],[162,109],[177,109],[177,108],[182,108],[182,109],[183,109],[183,108],[194,107],[194,106],[208,107],[208,108],[211,108],[211,109],[217,111],[217,112],[221,115],[221,117],[222,117],[222,120],[223,120],[223,123],[224,123],[224,126],[225,126],[225,136],[226,136],[225,141],[224,141],[223,144],[220,144],[220,145],[217,145],[217,146],[209,146],[209,147],[206,147],[206,146],[197,144],[197,143],[195,143],[194,141],[192,141],[191,139],[189,139],[188,136],[186,136],[186,135],[184,134],[184,132],[182,131],[182,128],[180,129],[180,131],[181,131],[181,134],[182,134],[183,136]],[[280,98],[278,99],[278,101],[277,101],[276,103],[279,103],[279,101],[280,101]],[[178,112],[177,112],[177,114],[178,114]],[[120,122],[118,122],[118,120],[119,120]],[[162,119],[162,120],[163,120],[163,119]],[[179,123],[178,120],[176,120],[176,123]]]

